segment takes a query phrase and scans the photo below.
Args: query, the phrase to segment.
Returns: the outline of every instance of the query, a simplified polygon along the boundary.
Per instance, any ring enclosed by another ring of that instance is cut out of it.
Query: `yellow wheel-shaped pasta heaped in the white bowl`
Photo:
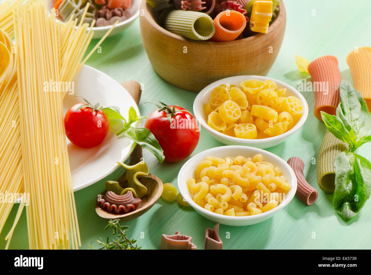
[[[249,79],[213,89],[204,105],[207,124],[224,135],[243,139],[263,139],[292,129],[303,113],[303,103],[285,96],[277,83]]]

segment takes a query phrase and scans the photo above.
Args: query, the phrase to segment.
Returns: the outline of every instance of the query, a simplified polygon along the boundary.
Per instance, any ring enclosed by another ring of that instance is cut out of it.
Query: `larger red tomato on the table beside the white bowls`
[[[169,107],[173,109],[172,105]],[[200,130],[193,115],[179,106],[175,106],[175,114],[171,121],[174,128],[171,128],[167,113],[165,111],[159,113],[157,109],[148,116],[144,127],[158,140],[164,150],[165,160],[178,162],[191,155],[196,148]]]

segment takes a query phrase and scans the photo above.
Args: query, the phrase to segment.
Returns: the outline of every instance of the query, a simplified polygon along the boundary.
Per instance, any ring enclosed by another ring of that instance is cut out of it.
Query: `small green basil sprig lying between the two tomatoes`
[[[146,118],[145,116],[138,116],[133,107],[130,107],[129,109],[128,120],[126,120],[125,117],[123,117],[119,112],[116,112],[111,108],[104,109],[104,112],[110,121],[123,120],[124,125],[122,129],[116,133],[117,136],[126,136],[127,138],[138,143],[142,148],[148,149],[152,154],[155,155],[159,162],[164,161],[164,151],[151,131],[147,128],[131,126],[132,123],[136,122],[137,120]]]

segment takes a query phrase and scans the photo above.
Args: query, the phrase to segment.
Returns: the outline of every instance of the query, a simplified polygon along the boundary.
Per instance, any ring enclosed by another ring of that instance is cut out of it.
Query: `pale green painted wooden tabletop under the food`
[[[351,80],[345,61],[347,54],[355,47],[371,46],[369,1],[286,0],[285,6],[285,37],[267,76],[297,87],[298,81],[309,75],[297,70],[295,54],[308,60],[332,54],[339,60],[343,78]],[[143,104],[154,98],[168,104],[178,104],[188,110],[193,109],[196,93],[170,85],[152,69],[142,44],[138,19],[124,33],[106,39],[102,44],[102,53],[94,54],[87,64],[110,75],[119,83],[126,80],[137,80],[141,83],[144,87],[139,104],[142,115],[149,115],[154,110],[154,106]],[[268,150],[284,160],[291,156],[299,156],[304,160],[304,175],[319,191],[316,203],[306,206],[294,197],[286,208],[267,221],[243,227],[221,225],[220,236],[224,249],[370,248],[371,201],[367,201],[361,212],[346,223],[332,207],[333,195],[325,194],[318,188],[316,165],[311,163],[312,158],[317,158],[325,126],[313,116],[314,94],[303,92],[303,96],[310,109],[305,125],[285,143]],[[201,129],[200,135],[200,142],[192,155],[223,145],[204,129]],[[367,149],[363,150],[362,155],[370,159],[370,147]],[[171,182],[177,186],[178,171],[186,160],[159,164],[148,151],[144,152],[144,159],[152,174],[157,175],[164,183]],[[75,192],[81,249],[88,249],[91,243],[94,248],[98,248],[95,239],[111,236],[111,232],[103,231],[107,221],[97,216],[94,209],[96,195],[104,189],[104,181],[105,179]],[[5,247],[4,237],[12,225],[16,211],[17,207],[14,207],[0,235],[1,249]],[[16,227],[11,249],[28,248],[25,212],[23,211]],[[144,249],[159,249],[161,235],[173,234],[175,231],[192,236],[198,249],[203,249],[205,229],[211,228],[214,222],[198,215],[190,207],[180,207],[176,201],[169,203],[160,199],[150,211],[126,224],[130,226],[129,237],[136,238],[138,245]]]

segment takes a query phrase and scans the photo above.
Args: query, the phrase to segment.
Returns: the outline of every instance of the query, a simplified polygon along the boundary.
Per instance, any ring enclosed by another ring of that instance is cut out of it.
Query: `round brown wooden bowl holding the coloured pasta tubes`
[[[266,34],[231,42],[205,42],[185,39],[160,27],[154,11],[142,0],[140,9],[144,15],[139,16],[139,22],[144,48],[154,70],[164,80],[193,92],[229,76],[265,76],[285,34],[286,10],[282,0],[279,8],[278,17]]]

